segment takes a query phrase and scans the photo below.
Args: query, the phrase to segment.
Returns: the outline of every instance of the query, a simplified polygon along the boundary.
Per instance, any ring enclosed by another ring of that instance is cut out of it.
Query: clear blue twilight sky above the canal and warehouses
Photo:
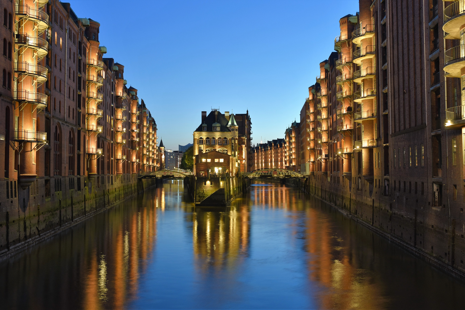
[[[358,0],[71,0],[100,22],[106,57],[152,112],[170,149],[192,143],[201,111],[245,113],[253,141],[284,138]],[[92,11],[89,9],[92,7]],[[159,139],[158,139],[159,142]]]

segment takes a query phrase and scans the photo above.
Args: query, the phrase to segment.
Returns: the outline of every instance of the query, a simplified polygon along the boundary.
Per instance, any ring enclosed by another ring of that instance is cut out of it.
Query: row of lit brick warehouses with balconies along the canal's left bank
[[[156,123],[103,57],[100,24],[69,3],[15,2],[0,1],[0,253],[137,192],[160,164]]]

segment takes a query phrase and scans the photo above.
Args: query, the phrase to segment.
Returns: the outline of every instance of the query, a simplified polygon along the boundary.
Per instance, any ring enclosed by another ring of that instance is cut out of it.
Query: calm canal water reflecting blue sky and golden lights
[[[1,309],[463,309],[465,285],[298,189],[193,210],[182,181],[0,263]]]

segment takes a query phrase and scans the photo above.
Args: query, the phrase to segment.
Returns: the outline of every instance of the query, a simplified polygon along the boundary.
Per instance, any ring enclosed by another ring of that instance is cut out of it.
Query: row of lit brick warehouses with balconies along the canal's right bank
[[[312,193],[461,272],[463,2],[360,0],[339,20],[336,52],[319,64],[285,148],[295,170],[287,141],[300,141]]]

